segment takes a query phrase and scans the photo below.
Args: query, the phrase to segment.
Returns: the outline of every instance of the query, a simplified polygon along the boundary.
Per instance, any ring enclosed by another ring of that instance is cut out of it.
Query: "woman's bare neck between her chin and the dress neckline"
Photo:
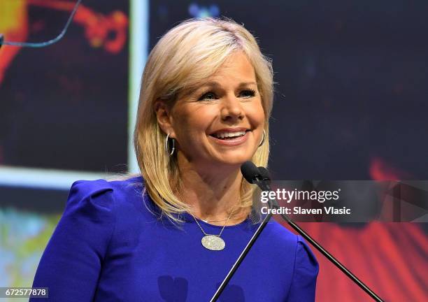
[[[249,209],[238,208],[242,175],[239,166],[204,167],[179,159],[183,192],[179,196],[202,220],[224,220],[226,225],[242,222]],[[213,224],[224,225],[224,221]]]

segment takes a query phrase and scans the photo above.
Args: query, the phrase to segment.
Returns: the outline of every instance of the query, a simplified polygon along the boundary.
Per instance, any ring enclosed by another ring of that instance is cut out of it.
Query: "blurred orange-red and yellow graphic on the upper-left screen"
[[[0,33],[5,41],[27,41],[29,34],[28,6],[44,7],[71,13],[76,1],[13,0],[0,3]],[[127,40],[128,17],[122,11],[114,10],[108,15],[97,13],[79,5],[73,22],[85,29],[85,38],[93,48],[104,48],[116,54]],[[54,38],[54,37],[52,37]],[[3,45],[0,49],[0,84],[6,69],[20,51],[20,47]]]

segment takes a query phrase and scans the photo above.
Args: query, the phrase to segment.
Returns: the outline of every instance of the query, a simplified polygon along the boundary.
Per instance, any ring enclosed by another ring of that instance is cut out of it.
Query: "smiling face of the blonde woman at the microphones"
[[[234,52],[203,85],[180,97],[169,114],[180,156],[200,166],[241,165],[263,136],[264,110],[255,71]]]

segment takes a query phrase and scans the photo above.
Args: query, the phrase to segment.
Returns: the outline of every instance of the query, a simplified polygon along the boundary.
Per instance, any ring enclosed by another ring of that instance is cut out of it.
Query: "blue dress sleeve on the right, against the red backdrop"
[[[318,261],[307,243],[300,235],[297,236],[296,261],[287,301],[315,301],[315,287],[318,276]]]

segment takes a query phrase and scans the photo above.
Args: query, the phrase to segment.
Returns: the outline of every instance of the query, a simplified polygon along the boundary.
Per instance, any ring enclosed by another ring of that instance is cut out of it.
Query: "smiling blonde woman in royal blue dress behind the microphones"
[[[271,64],[241,25],[171,29],[143,73],[142,177],[74,182],[33,286],[52,301],[209,301],[260,220],[240,166],[267,163],[272,100]],[[313,301],[317,275],[272,221],[219,301]]]

